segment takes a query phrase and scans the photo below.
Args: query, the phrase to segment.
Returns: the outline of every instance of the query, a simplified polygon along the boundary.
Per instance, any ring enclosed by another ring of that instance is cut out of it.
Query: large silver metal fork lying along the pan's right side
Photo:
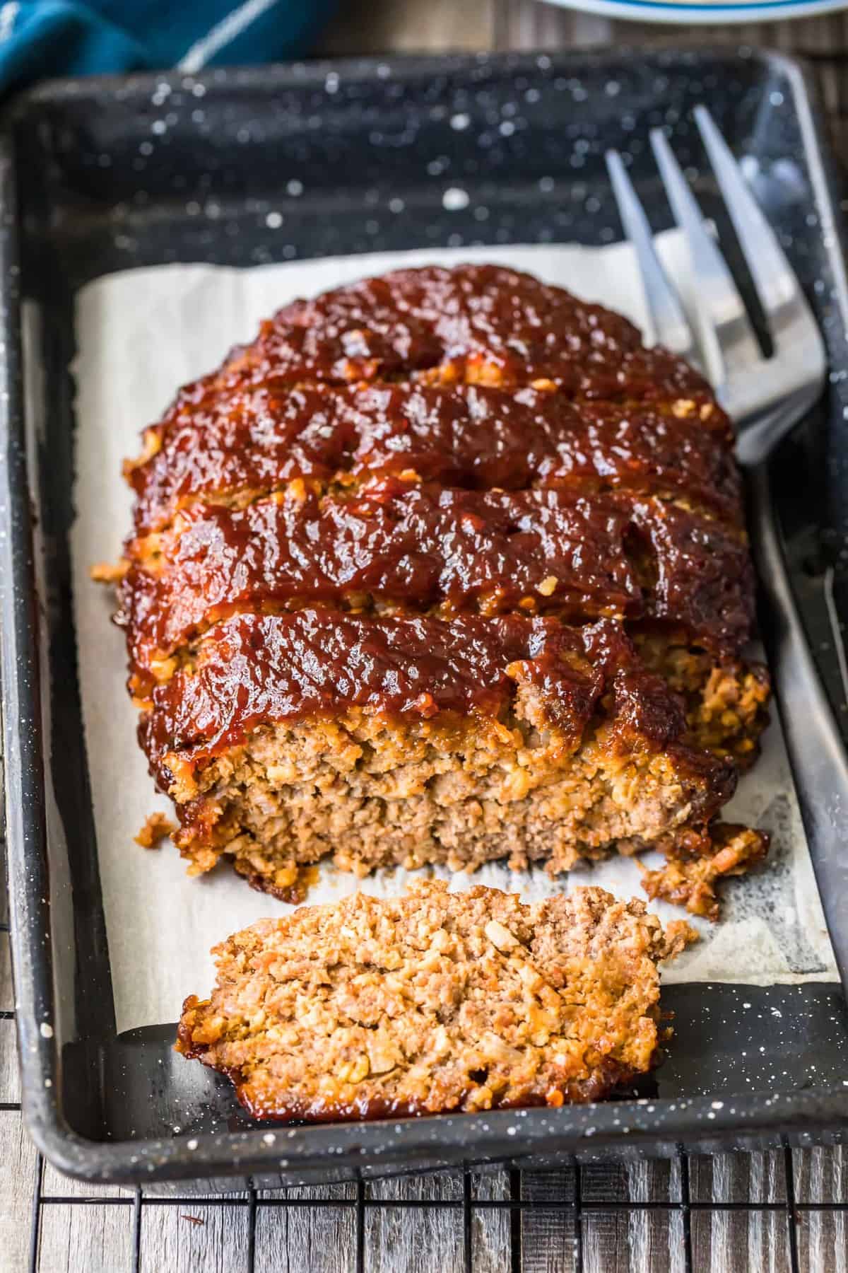
[[[734,421],[736,451],[749,470],[751,549],[767,610],[763,636],[776,682],[781,721],[819,880],[830,939],[848,994],[848,924],[840,899],[848,891],[844,826],[848,755],[821,686],[801,622],[774,518],[769,452],[815,406],[826,359],[819,327],[774,232],[706,107],[695,121],[736,237],[759,294],[774,353],[764,358],[732,275],[701,215],[665,134],[651,145],[675,220],[684,233],[697,284],[687,313],[656,253],[645,210],[617,151],[606,162],[624,230],[636,251],[651,330],[659,341],[694,363]],[[694,309],[694,312],[692,312]],[[802,475],[801,475],[802,480]],[[825,593],[828,578],[825,574]],[[848,661],[835,610],[828,606],[848,701]]]

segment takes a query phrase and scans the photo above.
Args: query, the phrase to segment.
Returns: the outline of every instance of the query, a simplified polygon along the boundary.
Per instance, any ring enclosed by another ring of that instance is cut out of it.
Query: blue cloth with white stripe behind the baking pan
[[[308,53],[334,0],[6,0],[0,94],[55,75],[187,73]]]

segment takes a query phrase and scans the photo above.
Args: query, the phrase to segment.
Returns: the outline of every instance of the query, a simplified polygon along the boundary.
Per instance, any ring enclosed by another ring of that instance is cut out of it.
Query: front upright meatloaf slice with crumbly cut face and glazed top
[[[239,615],[140,728],[191,869],[226,857],[284,897],[328,853],[566,871],[704,825],[736,782],[610,620]]]

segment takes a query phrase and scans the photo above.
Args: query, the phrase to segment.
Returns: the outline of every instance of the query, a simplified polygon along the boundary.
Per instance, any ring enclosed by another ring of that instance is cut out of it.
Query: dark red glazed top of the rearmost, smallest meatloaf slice
[[[548,382],[571,397],[680,398],[702,378],[601,306],[516,270],[397,270],[295,300],[225,364],[258,384],[329,384],[430,373],[437,383]]]

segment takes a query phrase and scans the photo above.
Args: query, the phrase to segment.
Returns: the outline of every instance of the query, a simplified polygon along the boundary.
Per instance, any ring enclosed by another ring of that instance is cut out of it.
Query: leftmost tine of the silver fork
[[[669,281],[656,253],[647,216],[633,190],[633,183],[624,171],[618,150],[606,151],[606,168],[624,233],[633,244],[642,275],[645,300],[653,328],[648,337],[653,342],[659,341],[665,345],[673,353],[681,354],[694,362],[695,345],[692,328],[687,322],[678,293]]]

